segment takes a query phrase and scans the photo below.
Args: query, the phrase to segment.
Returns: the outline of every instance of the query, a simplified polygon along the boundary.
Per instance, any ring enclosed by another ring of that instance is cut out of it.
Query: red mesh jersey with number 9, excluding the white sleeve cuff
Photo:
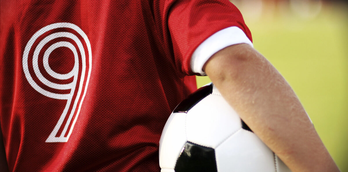
[[[0,21],[10,171],[160,171],[193,52],[231,26],[252,39],[228,0],[0,0]]]

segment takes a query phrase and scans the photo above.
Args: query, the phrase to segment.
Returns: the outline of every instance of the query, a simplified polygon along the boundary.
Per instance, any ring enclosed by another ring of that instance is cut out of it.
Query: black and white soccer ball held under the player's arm
[[[212,83],[183,100],[159,143],[161,172],[287,172]]]

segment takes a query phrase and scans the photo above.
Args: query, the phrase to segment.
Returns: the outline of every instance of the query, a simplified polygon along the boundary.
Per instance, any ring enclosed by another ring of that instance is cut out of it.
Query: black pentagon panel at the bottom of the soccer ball
[[[217,172],[215,150],[187,142],[176,161],[175,172]]]

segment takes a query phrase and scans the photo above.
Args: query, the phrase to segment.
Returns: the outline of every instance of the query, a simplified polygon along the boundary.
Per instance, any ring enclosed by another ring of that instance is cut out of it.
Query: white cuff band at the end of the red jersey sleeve
[[[228,27],[214,33],[202,42],[193,52],[190,67],[192,72],[205,76],[203,66],[208,59],[216,52],[230,45],[246,43],[253,46],[253,43],[245,33],[237,26]]]

